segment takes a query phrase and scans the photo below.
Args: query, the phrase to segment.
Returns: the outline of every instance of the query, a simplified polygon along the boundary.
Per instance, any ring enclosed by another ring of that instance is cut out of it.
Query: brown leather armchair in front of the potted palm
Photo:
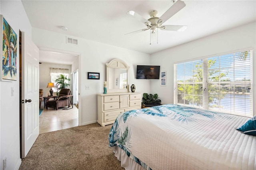
[[[68,97],[63,97],[63,96],[70,95],[70,93],[71,93],[70,89],[61,89],[59,97],[57,99],[50,100],[54,98],[54,96],[51,96],[47,99],[46,109],[48,109],[48,107],[51,107],[51,108],[56,108],[56,110],[58,110],[58,107],[68,106]]]

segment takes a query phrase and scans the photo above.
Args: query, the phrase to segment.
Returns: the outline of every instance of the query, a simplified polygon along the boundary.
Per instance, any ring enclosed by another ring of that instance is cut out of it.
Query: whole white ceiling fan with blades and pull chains
[[[157,36],[158,28],[160,30],[179,31],[179,32],[186,30],[187,26],[162,25],[169,18],[174,16],[174,14],[176,14],[177,12],[179,12],[182,8],[184,8],[186,6],[186,4],[181,0],[178,0],[176,2],[175,2],[175,0],[173,0],[172,2],[174,4],[160,18],[156,17],[158,14],[158,12],[156,10],[153,10],[152,12],[150,12],[150,18],[148,20],[146,20],[145,18],[143,18],[142,16],[140,16],[139,14],[137,14],[134,11],[128,11],[126,14],[136,18],[140,22],[144,23],[147,27],[147,28],[144,28],[144,29],[141,29],[138,31],[130,32],[128,34],[135,34],[138,32],[144,32],[146,30],[150,30],[150,44],[151,44],[151,42],[154,42],[154,41],[157,41],[157,43],[158,43],[158,36]],[[125,34],[125,35],[127,35],[127,34]]]

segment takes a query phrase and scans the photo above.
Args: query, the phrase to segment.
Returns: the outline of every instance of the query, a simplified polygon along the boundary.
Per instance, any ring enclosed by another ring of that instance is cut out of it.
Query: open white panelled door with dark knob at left
[[[22,158],[39,135],[39,49],[22,32]]]

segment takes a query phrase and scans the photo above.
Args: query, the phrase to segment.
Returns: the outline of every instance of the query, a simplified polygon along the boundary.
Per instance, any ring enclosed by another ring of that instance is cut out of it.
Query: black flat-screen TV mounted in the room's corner
[[[137,65],[136,79],[159,79],[159,65]]]

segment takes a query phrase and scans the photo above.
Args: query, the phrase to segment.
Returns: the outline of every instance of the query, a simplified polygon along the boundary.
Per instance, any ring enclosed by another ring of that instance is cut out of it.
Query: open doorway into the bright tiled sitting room
[[[68,78],[71,79],[69,82],[69,89],[73,95],[73,108],[68,110],[62,110],[64,108],[59,108],[58,111],[54,108],[48,108],[46,110],[46,107],[44,106],[44,100],[42,100],[40,109],[43,111],[40,115],[40,134],[44,132],[62,130],[64,128],[76,127],[79,125],[80,119],[80,109],[75,107],[79,98],[78,69],[80,65],[80,54],[70,51],[50,49],[46,47],[39,47],[39,49],[39,59],[41,63],[39,66],[39,87],[44,91],[43,98],[48,96],[50,90],[49,88],[46,88],[47,83],[54,82],[54,79],[51,76],[52,74],[49,74],[50,68],[69,69]],[[73,71],[73,68],[76,68],[76,71]],[[56,73],[53,75],[55,74]],[[76,76],[74,77],[75,74]],[[54,88],[52,89],[54,90]],[[56,96],[56,91],[53,92],[53,95]]]

